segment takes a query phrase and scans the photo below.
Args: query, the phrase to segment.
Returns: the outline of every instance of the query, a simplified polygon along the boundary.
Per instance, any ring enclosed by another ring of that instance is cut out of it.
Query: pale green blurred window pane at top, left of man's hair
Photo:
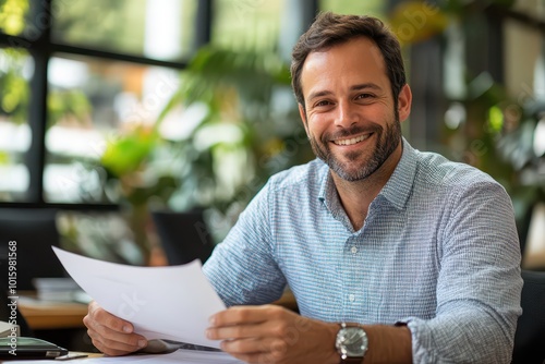
[[[283,1],[217,0],[211,43],[230,49],[276,48]]]

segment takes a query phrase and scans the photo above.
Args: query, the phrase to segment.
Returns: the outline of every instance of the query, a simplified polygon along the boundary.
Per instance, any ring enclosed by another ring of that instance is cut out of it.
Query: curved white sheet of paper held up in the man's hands
[[[219,348],[206,339],[208,317],[226,308],[199,260],[136,267],[101,262],[55,247],[64,269],[106,311],[131,321],[147,339]]]

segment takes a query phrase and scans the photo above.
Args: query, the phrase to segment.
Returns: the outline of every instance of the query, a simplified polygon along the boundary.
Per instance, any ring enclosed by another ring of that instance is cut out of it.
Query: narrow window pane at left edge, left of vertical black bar
[[[0,201],[23,201],[29,175],[28,80],[34,72],[26,51],[0,49]]]

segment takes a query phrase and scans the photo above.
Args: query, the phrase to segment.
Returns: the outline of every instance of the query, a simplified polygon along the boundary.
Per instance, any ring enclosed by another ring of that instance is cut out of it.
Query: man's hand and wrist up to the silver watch
[[[338,329],[276,305],[234,306],[210,317],[206,336],[247,363],[337,363]]]

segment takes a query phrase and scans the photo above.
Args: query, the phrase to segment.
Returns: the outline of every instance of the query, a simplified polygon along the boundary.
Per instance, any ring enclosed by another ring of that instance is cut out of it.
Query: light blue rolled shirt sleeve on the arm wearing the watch
[[[510,363],[521,314],[520,247],[497,183],[453,191],[441,240],[436,317],[408,317],[414,363]]]

